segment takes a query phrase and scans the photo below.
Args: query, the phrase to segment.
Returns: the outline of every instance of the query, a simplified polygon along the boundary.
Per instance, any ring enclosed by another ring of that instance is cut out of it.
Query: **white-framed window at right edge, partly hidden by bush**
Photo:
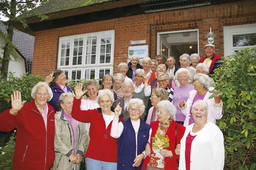
[[[224,56],[256,47],[256,24],[223,27]]]

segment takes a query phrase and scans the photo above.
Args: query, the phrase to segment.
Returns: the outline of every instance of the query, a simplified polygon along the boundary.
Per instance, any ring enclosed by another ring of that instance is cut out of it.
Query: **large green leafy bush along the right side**
[[[215,87],[223,101],[217,125],[224,135],[225,167],[254,170],[256,162],[256,48],[225,57],[215,70]]]

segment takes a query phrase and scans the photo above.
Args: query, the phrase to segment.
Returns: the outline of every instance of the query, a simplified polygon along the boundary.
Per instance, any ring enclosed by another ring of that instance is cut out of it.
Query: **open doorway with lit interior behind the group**
[[[157,34],[157,54],[163,55],[164,62],[167,56],[174,56],[179,65],[179,57],[183,53],[189,55],[198,53],[198,30],[182,30],[159,32]]]

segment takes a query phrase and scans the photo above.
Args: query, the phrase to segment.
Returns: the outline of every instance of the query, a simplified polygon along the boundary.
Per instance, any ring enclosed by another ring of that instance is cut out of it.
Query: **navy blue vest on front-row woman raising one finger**
[[[132,164],[134,164],[134,159],[136,157],[136,132],[132,127],[130,118],[122,123],[124,125],[124,130],[118,139],[117,170],[134,170],[135,167],[132,167]],[[145,146],[148,142],[148,138],[150,137],[150,128],[150,125],[140,119],[137,136],[137,155],[145,151]],[[138,167],[138,170],[141,169],[143,161],[144,159]]]

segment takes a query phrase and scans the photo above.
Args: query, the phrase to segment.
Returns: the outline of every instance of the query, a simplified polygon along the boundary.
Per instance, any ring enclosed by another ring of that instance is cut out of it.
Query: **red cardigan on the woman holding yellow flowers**
[[[152,129],[151,138],[150,138],[151,151],[152,151],[152,137],[154,137],[156,134],[156,131],[158,129],[158,124],[159,124],[159,121],[154,121],[154,122],[150,123],[151,129]],[[169,147],[165,148],[165,149],[171,151],[172,155],[173,155],[172,157],[164,157],[166,170],[177,170],[177,161],[176,160],[179,159],[179,157],[180,157],[179,155],[176,155],[176,153],[175,153],[175,148],[176,148],[176,146],[175,146],[175,127],[176,127],[176,124],[177,123],[174,120],[171,121],[171,124],[165,134],[166,136],[169,137]],[[178,124],[176,144],[180,144],[180,139],[183,137],[184,132],[185,132],[185,127],[182,126],[181,124]],[[146,170],[146,167],[147,167],[147,164],[149,161],[150,161],[150,157],[147,156],[145,158],[145,161],[141,168],[142,170]]]

